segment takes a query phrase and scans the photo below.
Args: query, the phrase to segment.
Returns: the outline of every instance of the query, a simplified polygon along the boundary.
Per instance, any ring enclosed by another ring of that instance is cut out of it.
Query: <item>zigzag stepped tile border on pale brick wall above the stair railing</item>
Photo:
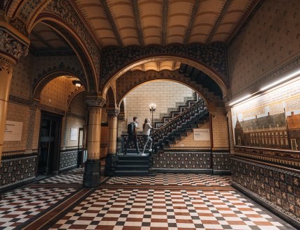
[[[198,100],[198,95],[195,93],[193,97],[185,97],[184,102],[176,102],[175,108],[168,108],[167,113],[165,114],[160,114],[160,118],[153,119],[153,128],[157,130],[158,128],[162,127],[169,121],[171,121],[173,118],[176,116],[179,116],[182,112],[184,112],[186,109],[191,107],[192,105],[195,104]]]

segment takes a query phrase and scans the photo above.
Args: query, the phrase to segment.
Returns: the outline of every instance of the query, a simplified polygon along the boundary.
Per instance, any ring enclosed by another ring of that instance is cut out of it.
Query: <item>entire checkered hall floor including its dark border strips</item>
[[[294,229],[230,187],[230,176],[114,177],[89,190],[82,174],[3,194],[0,229]]]

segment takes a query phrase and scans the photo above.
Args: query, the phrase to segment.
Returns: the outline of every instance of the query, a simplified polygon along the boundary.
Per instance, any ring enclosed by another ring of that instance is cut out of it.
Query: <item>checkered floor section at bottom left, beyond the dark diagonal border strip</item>
[[[14,229],[36,217],[72,192],[73,188],[24,187],[7,192],[0,201],[0,229]]]

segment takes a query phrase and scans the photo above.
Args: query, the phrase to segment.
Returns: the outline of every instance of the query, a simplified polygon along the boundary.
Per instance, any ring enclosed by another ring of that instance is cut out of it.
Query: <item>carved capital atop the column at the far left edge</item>
[[[20,56],[28,54],[28,46],[20,43],[13,38],[8,32],[0,29],[0,50],[15,59],[20,59]]]

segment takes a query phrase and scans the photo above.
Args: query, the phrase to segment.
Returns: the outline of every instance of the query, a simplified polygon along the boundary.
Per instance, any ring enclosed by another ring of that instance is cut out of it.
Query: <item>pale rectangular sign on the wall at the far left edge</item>
[[[6,121],[4,141],[21,141],[23,123],[18,121]]]

